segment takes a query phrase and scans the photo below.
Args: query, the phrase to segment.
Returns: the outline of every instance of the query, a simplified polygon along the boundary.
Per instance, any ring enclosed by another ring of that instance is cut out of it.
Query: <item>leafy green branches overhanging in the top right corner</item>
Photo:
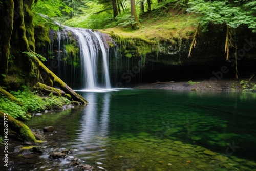
[[[243,5],[233,4],[229,1],[204,1],[195,0],[188,3],[190,8],[188,12],[200,14],[200,24],[207,31],[207,24],[226,24],[231,28],[238,28],[246,25],[256,32],[256,19],[250,7],[254,7],[255,3],[246,3]]]

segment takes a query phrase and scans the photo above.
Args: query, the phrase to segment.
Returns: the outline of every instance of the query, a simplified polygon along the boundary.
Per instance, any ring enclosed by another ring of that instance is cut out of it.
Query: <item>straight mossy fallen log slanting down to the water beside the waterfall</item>
[[[63,82],[51,70],[49,70],[38,58],[34,57],[34,60],[38,63],[40,69],[44,71],[53,80],[54,83],[58,84],[61,90],[71,95],[71,98],[73,100],[81,102],[82,104],[88,104],[88,101],[86,99],[84,99],[82,96],[77,94],[73,89],[71,89],[65,82]]]

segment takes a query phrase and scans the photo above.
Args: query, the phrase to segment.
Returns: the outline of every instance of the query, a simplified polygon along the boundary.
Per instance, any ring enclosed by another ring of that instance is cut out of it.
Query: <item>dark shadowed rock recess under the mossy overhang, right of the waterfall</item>
[[[225,33],[225,29],[212,28],[209,32],[197,35],[196,47],[189,58],[191,39],[185,38],[176,38],[175,44],[161,41],[157,50],[146,53],[145,56],[133,55],[127,58],[121,52],[118,55],[120,65],[117,80],[122,85],[127,85],[155,80],[207,79],[218,71],[224,71],[221,78],[236,78],[234,47],[230,48],[229,60],[226,60]],[[239,77],[247,78],[256,72],[256,34],[250,30],[237,30],[233,39],[237,41]],[[126,54],[135,48],[129,46],[125,50]]]

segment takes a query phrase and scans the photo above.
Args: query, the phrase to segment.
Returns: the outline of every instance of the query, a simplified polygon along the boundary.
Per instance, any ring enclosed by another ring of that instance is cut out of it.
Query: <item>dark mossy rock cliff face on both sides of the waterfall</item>
[[[97,31],[98,32],[98,31]],[[207,79],[215,73],[225,72],[223,78],[235,78],[234,48],[230,48],[229,61],[226,60],[225,28],[219,26],[212,27],[208,32],[199,33],[196,36],[196,46],[192,50],[191,56],[188,53],[191,44],[191,37],[173,38],[172,42],[160,41],[157,44],[152,40],[132,39],[118,37],[116,34],[100,33],[106,49],[109,49],[109,70],[112,87],[131,87],[138,83],[150,83],[158,81],[178,81]],[[52,35],[53,33],[51,33]],[[55,33],[57,35],[57,33]],[[68,41],[61,39],[61,47],[58,47],[57,36],[51,40],[51,59],[57,62],[66,63],[65,70],[70,70],[64,79],[74,87],[79,85],[79,48],[74,35]],[[235,37],[233,37],[235,40]],[[115,40],[115,41],[114,41]],[[237,30],[237,61],[238,71],[241,77],[249,77],[256,72],[256,34],[250,30]],[[66,48],[64,50],[63,48]],[[67,50],[69,48],[69,51]],[[42,50],[42,48],[38,49]],[[49,49],[48,49],[49,51]],[[57,58],[57,56],[59,57]],[[55,57],[55,58],[54,58]],[[99,64],[100,65],[100,64]],[[224,67],[224,68],[223,68]],[[56,72],[59,71],[57,67]],[[222,71],[223,70],[223,71]],[[227,72],[228,71],[228,72]],[[67,71],[65,71],[67,72]],[[66,78],[69,73],[75,74],[72,78]],[[60,76],[61,77],[61,76]]]

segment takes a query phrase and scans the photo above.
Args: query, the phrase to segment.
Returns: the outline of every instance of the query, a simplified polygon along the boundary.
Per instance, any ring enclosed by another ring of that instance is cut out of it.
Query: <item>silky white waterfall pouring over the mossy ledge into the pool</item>
[[[72,33],[80,51],[80,74],[82,89],[110,89],[109,49],[103,44],[99,33],[90,29],[65,27],[64,31]],[[65,33],[65,35],[67,35]],[[58,50],[60,51],[60,33],[58,35]],[[62,39],[65,39],[62,37]],[[58,53],[57,59],[60,55]],[[102,61],[102,66],[99,63]],[[59,69],[58,69],[59,70]],[[58,72],[59,73],[59,72]],[[60,73],[58,74],[60,75]]]

